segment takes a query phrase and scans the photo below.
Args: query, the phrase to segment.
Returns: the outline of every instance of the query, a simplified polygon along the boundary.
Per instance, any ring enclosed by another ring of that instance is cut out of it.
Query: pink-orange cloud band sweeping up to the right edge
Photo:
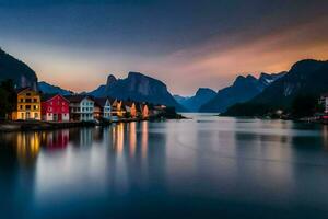
[[[216,90],[239,73],[279,72],[300,59],[328,59],[326,26],[328,19],[323,16],[254,38],[248,33],[220,37],[171,54],[152,68],[165,71],[166,80],[175,79],[175,93],[188,93],[200,85]]]

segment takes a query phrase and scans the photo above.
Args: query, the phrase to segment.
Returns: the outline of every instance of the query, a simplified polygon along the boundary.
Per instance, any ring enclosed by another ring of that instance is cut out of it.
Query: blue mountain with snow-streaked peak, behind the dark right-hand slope
[[[280,73],[261,73],[258,79],[248,74],[247,77],[238,76],[233,85],[224,88],[218,94],[200,107],[200,112],[225,112],[226,108],[236,104],[249,101],[261,93],[273,81],[282,78],[285,72]]]

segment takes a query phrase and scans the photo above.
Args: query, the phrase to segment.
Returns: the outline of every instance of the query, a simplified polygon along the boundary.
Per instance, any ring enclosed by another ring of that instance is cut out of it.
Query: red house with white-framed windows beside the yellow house
[[[70,120],[70,102],[60,94],[42,96],[42,117],[49,122]]]

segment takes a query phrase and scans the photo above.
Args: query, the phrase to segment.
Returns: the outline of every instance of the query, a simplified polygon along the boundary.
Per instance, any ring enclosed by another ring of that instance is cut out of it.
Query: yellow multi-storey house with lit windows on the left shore
[[[31,88],[21,89],[17,91],[17,106],[13,112],[14,120],[40,120],[40,95],[37,91]]]

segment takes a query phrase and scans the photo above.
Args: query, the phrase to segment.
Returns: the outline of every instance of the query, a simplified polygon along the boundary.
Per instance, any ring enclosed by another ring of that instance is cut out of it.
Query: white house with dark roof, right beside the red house
[[[87,95],[65,96],[70,102],[70,118],[75,122],[94,120],[94,101]]]

